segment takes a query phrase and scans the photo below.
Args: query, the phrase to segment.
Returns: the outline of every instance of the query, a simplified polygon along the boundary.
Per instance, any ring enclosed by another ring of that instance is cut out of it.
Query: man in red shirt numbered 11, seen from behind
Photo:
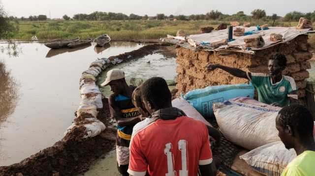
[[[130,141],[128,173],[131,176],[215,176],[208,129],[172,107],[171,92],[163,78],[153,77],[141,86],[142,101],[155,122]]]

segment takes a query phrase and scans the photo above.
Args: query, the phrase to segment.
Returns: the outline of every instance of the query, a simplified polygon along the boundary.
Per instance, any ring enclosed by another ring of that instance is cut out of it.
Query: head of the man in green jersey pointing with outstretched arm
[[[268,61],[268,70],[270,75],[282,74],[286,67],[286,57],[284,54],[274,54]]]

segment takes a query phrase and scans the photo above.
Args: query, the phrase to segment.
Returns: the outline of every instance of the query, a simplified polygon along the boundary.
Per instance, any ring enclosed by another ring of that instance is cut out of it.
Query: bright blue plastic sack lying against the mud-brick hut
[[[209,86],[203,89],[189,91],[182,97],[188,101],[204,118],[214,116],[212,105],[237,97],[254,97],[252,84],[231,84]]]

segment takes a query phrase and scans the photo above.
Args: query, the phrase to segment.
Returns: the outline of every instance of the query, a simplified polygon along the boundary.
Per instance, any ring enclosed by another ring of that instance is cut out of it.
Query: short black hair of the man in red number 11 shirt
[[[154,108],[162,108],[172,101],[171,91],[165,79],[152,77],[141,85],[141,95],[149,101]]]

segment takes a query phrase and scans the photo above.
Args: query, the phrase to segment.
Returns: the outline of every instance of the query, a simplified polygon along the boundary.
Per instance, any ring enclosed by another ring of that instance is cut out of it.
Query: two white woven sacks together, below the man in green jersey
[[[295,157],[278,137],[276,117],[280,107],[250,98],[214,103],[213,110],[227,140],[249,152],[240,156],[254,170],[266,176],[280,176]]]

